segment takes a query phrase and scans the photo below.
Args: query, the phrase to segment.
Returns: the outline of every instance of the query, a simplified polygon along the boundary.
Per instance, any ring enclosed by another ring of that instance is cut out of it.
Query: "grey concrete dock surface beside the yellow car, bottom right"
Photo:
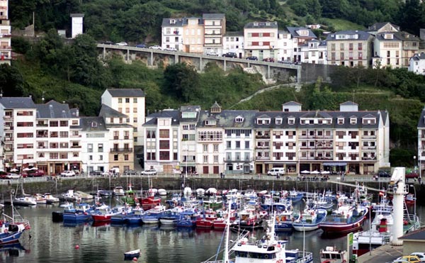
[[[358,257],[358,263],[391,262],[403,255],[403,246],[382,245]]]

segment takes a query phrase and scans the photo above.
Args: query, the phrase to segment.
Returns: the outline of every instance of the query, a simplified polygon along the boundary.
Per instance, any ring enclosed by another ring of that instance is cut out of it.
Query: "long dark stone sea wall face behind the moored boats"
[[[24,184],[0,184],[0,194],[7,198],[11,190],[15,190],[18,194],[21,194],[21,188],[25,189],[26,194],[35,193],[46,193],[62,194],[68,189],[76,189],[80,191],[92,192],[97,189],[113,189],[115,186],[123,186],[125,189],[129,184],[132,185],[132,189],[140,191],[149,189],[150,185],[154,188],[164,188],[166,190],[180,191],[183,184],[190,186],[192,189],[208,189],[214,187],[216,189],[255,189],[256,191],[261,190],[292,190],[297,189],[299,191],[323,191],[324,189],[332,191],[353,191],[353,184],[355,182],[346,182],[351,185],[336,184],[334,181],[297,181],[293,179],[271,179],[269,177],[256,179],[217,179],[217,178],[176,178],[176,177],[154,177],[154,178],[78,178],[78,179],[59,179],[53,181],[33,181],[25,182]],[[388,189],[388,182],[368,181],[362,183],[365,186],[373,189]],[[424,184],[413,184],[410,187],[410,192],[414,193],[418,197],[418,202],[425,200],[425,185]]]

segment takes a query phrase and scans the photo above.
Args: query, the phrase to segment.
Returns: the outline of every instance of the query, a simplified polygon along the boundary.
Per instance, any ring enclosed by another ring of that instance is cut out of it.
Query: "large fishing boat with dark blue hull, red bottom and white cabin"
[[[362,228],[368,208],[356,205],[342,205],[332,211],[323,223],[319,224],[327,235],[342,235]]]

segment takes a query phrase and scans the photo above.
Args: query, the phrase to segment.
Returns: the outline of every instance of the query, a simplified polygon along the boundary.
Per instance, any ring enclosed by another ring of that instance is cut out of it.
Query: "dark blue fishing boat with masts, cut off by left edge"
[[[4,206],[0,204],[0,216],[2,218],[0,220],[0,245],[19,242],[19,237],[23,232],[30,229],[29,221],[23,219],[16,211],[13,201],[11,201],[11,207],[11,216],[8,216],[4,213]]]

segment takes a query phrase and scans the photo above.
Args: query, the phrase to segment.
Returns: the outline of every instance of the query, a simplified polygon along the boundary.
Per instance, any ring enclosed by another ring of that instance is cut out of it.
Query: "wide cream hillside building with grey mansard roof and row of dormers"
[[[373,35],[361,30],[346,30],[327,36],[327,64],[369,67]]]

